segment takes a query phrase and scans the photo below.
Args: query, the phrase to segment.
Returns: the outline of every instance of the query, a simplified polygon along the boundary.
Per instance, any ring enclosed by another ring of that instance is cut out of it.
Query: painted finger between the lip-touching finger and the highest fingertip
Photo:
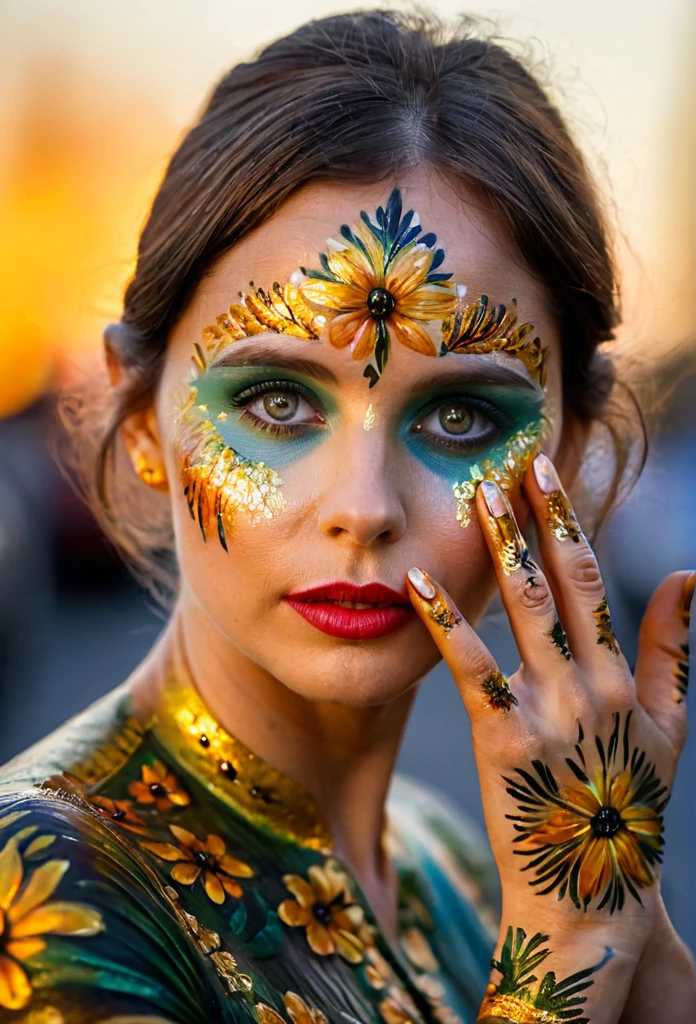
[[[551,587],[532,561],[513,508],[498,485],[483,480],[476,500],[522,663],[537,681],[555,683],[559,672],[565,674],[571,655]]]

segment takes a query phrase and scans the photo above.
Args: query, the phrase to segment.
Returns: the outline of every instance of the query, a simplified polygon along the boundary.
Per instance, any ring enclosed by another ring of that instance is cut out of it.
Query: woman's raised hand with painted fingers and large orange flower
[[[435,580],[410,570],[408,589],[471,718],[503,885],[480,1020],[552,1024],[592,1009],[570,1016],[605,1024],[620,1016],[658,905],[696,573],[658,587],[632,676],[594,552],[547,456],[524,486],[543,571],[499,488],[484,481],[476,499],[522,657],[509,680]]]

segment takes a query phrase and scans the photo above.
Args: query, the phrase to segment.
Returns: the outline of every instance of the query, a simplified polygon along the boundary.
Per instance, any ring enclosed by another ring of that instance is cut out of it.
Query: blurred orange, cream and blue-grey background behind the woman
[[[122,682],[162,628],[55,468],[56,389],[102,372],[101,328],[120,316],[148,203],[216,78],[307,18],[352,6],[0,0],[0,763]],[[614,213],[619,345],[658,403],[647,469],[600,546],[632,659],[654,587],[696,567],[696,8],[430,6],[490,17],[531,52]],[[482,632],[513,671],[503,620]],[[421,689],[401,768],[481,819],[467,719],[442,668]],[[663,889],[694,950],[695,777],[692,736]]]

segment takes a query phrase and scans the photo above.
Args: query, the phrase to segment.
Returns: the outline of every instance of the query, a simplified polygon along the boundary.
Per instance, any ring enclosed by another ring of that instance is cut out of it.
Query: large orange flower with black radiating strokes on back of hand
[[[595,738],[600,765],[592,775],[579,727],[577,761],[567,761],[579,785],[561,790],[540,761],[532,762],[534,774],[517,768],[517,778],[505,777],[521,812],[507,815],[523,846],[515,852],[531,858],[523,870],[534,872],[530,885],[540,887],[539,895],[558,890],[559,899],[568,893],[578,908],[598,900],[598,909],[608,906],[613,913],[623,906],[626,889],[640,903],[639,890],[653,885],[668,792],[645,753],[630,751],[630,717],[621,729],[614,715],[606,749]]]

